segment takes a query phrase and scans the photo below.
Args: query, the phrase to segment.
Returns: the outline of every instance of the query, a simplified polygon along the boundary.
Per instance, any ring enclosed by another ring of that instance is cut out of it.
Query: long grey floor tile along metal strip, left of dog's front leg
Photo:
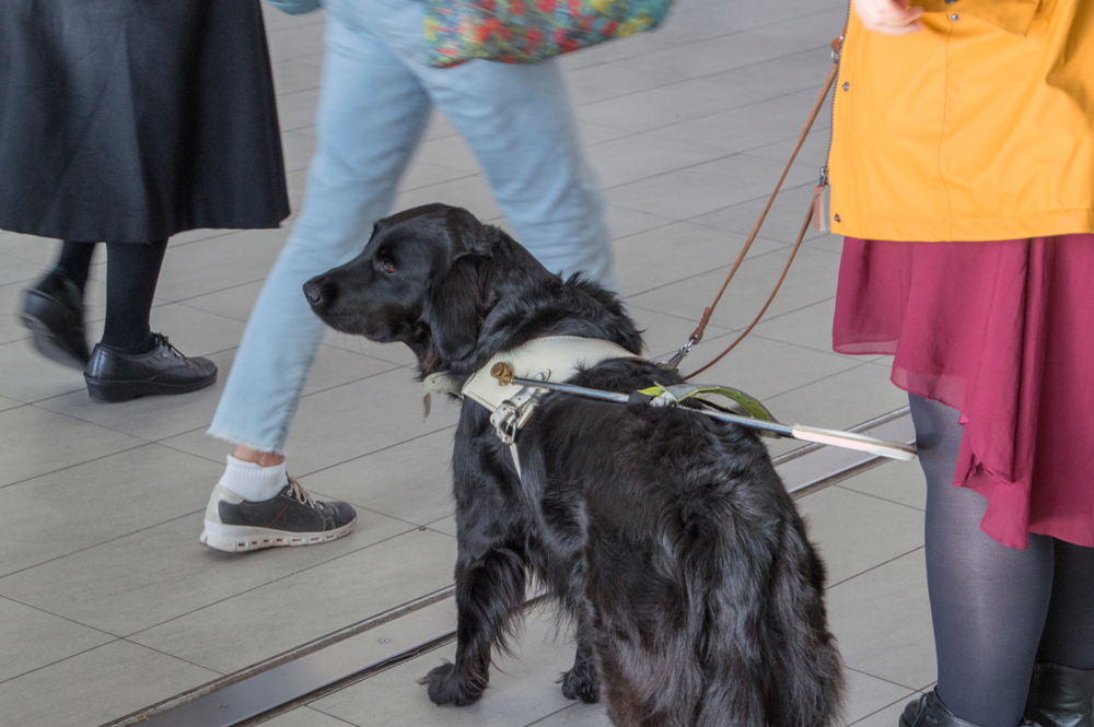
[[[454,538],[411,530],[131,641],[217,671],[235,671],[451,585],[455,558]]]

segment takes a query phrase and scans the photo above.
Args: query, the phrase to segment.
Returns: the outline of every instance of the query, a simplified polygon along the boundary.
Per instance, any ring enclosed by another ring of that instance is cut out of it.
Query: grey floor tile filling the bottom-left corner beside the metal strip
[[[0,714],[20,727],[88,727],[124,717],[218,676],[116,641],[0,683]]]

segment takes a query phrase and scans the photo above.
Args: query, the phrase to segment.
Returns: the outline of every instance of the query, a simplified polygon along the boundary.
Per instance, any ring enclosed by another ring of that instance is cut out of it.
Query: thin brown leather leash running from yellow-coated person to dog
[[[787,180],[787,176],[790,174],[790,167],[793,166],[794,160],[798,159],[798,153],[802,150],[802,146],[805,144],[805,139],[806,137],[808,137],[810,130],[813,128],[813,122],[816,121],[817,115],[821,113],[821,108],[824,107],[825,99],[828,97],[828,93],[831,91],[831,86],[836,82],[836,75],[839,72],[839,52],[843,45],[843,36],[846,34],[847,34],[847,27],[845,26],[843,32],[840,33],[839,37],[831,42],[831,50],[833,50],[831,70],[828,71],[828,78],[825,80],[824,89],[821,91],[821,95],[817,96],[816,103],[813,104],[813,109],[810,112],[808,119],[805,121],[805,127],[802,129],[801,134],[799,134],[798,137],[798,144],[794,146],[794,151],[790,154],[790,161],[787,162],[787,168],[782,171],[782,176],[779,177],[779,183],[775,186],[775,191],[771,192],[771,197],[768,198],[767,204],[764,207],[764,211],[760,212],[759,219],[756,220],[756,224],[753,226],[752,232],[748,233],[748,238],[745,241],[744,247],[741,248],[741,254],[737,255],[736,261],[734,261],[733,267],[730,269],[730,274],[725,277],[725,282],[722,283],[721,290],[718,291],[718,295],[714,297],[714,302],[711,303],[709,306],[707,306],[706,309],[703,309],[702,317],[699,319],[699,326],[695,329],[695,331],[693,331],[691,336],[688,337],[688,342],[684,344],[684,348],[680,349],[679,353],[677,353],[676,356],[674,356],[670,363],[678,363],[679,360],[682,360],[685,355],[687,355],[687,352],[690,350],[693,345],[702,340],[702,333],[707,329],[707,324],[710,321],[710,315],[714,312],[714,308],[718,307],[719,301],[722,300],[722,294],[725,293],[725,289],[729,288],[730,281],[733,280],[733,275],[736,274],[737,269],[744,261],[745,255],[748,254],[748,249],[756,241],[756,235],[759,234],[759,230],[764,225],[764,221],[767,219],[767,213],[771,211],[771,206],[775,204],[775,199],[776,197],[779,196],[779,191],[782,189],[782,183]],[[805,239],[805,233],[808,231],[810,223],[814,223],[818,228],[823,228],[819,225],[824,223],[824,216],[825,216],[824,215],[825,186],[827,186],[827,179],[822,177],[821,183],[813,191],[813,199],[810,200],[810,209],[805,215],[805,222],[802,224],[802,231],[801,233],[799,233],[798,241],[794,243],[794,247],[790,251],[790,259],[787,260],[787,266],[782,269],[782,274],[779,275],[779,281],[775,284],[775,290],[771,291],[771,294],[768,296],[767,302],[764,304],[764,307],[760,308],[760,312],[753,319],[752,324],[749,324],[748,327],[745,328],[745,330],[736,338],[735,341],[730,343],[730,345],[726,347],[724,351],[719,353],[717,356],[714,356],[714,359],[709,361],[707,364],[685,376],[684,377],[685,379],[689,379],[696,376],[697,374],[701,374],[702,372],[707,371],[715,363],[721,361],[726,353],[736,348],[737,343],[744,340],[744,338],[752,332],[753,328],[755,328],[759,324],[760,319],[764,317],[764,314],[767,313],[767,309],[770,307],[771,302],[775,301],[775,296],[779,293],[779,289],[782,286],[782,282],[787,279],[787,274],[790,272],[790,266],[791,263],[793,263],[794,257],[798,255],[798,250],[802,246],[802,241]]]

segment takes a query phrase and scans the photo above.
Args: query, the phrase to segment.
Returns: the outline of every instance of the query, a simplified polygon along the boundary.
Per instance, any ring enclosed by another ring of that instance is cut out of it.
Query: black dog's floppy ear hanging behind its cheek
[[[475,351],[481,301],[478,271],[470,257],[457,258],[447,274],[432,285],[424,318],[442,361],[459,361]]]

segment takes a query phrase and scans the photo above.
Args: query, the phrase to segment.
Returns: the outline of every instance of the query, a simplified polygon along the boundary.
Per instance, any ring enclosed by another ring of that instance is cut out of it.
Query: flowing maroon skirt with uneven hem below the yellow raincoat
[[[962,412],[954,484],[988,499],[985,532],[1094,547],[1094,235],[848,237],[833,348]]]

